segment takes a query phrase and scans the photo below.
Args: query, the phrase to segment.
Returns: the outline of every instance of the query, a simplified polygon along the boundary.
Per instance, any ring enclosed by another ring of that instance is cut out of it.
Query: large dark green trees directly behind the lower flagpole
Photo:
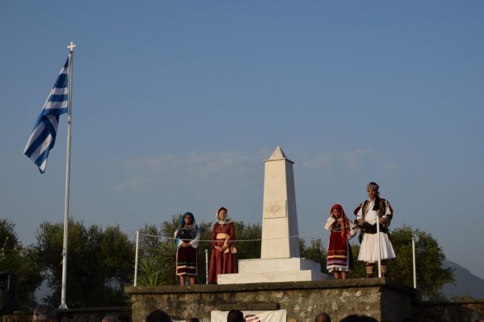
[[[64,223],[44,221],[36,238],[44,277],[53,290],[44,301],[56,305],[61,298]],[[67,253],[69,308],[123,305],[123,288],[131,282],[134,244],[119,225],[103,230],[70,218]]]

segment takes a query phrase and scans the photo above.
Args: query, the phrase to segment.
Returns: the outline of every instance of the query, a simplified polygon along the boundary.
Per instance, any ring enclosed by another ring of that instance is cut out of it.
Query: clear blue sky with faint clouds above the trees
[[[64,216],[66,116],[46,172],[22,154],[74,51],[70,215],[134,233],[192,211],[262,217],[295,161],[299,232],[380,184],[392,227],[484,278],[483,1],[0,3],[0,209],[24,244]],[[480,143],[481,142],[481,143]],[[329,234],[314,235],[325,243]]]

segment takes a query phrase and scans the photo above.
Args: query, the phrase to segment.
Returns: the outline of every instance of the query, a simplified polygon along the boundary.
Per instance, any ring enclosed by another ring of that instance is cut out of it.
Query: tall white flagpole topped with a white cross
[[[69,93],[67,106],[67,147],[66,147],[66,192],[64,199],[64,245],[62,248],[62,289],[61,289],[61,306],[59,308],[67,308],[66,305],[66,284],[67,284],[67,241],[69,234],[69,181],[70,181],[70,126],[72,116],[72,57],[74,54],[74,47],[76,45],[70,42],[67,46],[69,51]]]

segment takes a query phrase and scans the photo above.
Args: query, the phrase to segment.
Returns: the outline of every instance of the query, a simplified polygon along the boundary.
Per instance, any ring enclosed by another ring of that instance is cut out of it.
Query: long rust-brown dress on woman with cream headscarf
[[[235,240],[235,226],[233,222],[225,223],[221,225],[216,223],[212,229],[212,236],[210,237],[212,244],[212,255],[210,256],[210,267],[208,271],[208,282],[217,283],[217,274],[233,274],[237,273],[237,267],[235,264],[235,254],[230,252],[220,252],[214,248],[214,246],[222,247],[225,239],[217,239],[217,234],[230,235],[227,245],[232,245],[232,241]],[[229,248],[230,249],[230,248]]]

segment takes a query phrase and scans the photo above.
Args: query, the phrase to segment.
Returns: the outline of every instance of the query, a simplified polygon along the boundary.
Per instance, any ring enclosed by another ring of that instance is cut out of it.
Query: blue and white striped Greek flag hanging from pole
[[[34,130],[32,131],[27,145],[25,145],[25,150],[23,151],[30,160],[37,164],[41,173],[45,172],[49,150],[54,147],[59,115],[67,113],[69,90],[67,86],[69,79],[68,64],[69,59],[67,58],[67,61],[55,82],[54,88],[50,91],[47,101],[45,101],[44,108],[42,109],[37,122],[35,122]]]

